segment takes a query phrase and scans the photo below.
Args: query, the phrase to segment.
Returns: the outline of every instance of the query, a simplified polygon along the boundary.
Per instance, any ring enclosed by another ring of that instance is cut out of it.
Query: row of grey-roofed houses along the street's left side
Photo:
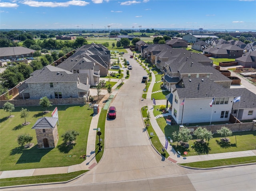
[[[47,65],[31,74],[20,87],[20,97],[39,99],[79,98],[90,95],[90,86],[106,76],[110,65],[110,51],[102,45],[84,45],[58,66]]]

